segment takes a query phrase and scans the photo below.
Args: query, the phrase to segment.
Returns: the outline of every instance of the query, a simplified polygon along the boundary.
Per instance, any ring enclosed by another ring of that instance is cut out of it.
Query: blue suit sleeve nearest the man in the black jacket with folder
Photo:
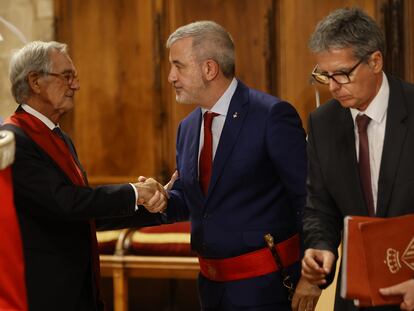
[[[270,157],[295,208],[298,230],[306,198],[306,136],[296,110],[286,102],[272,106],[267,124]]]

